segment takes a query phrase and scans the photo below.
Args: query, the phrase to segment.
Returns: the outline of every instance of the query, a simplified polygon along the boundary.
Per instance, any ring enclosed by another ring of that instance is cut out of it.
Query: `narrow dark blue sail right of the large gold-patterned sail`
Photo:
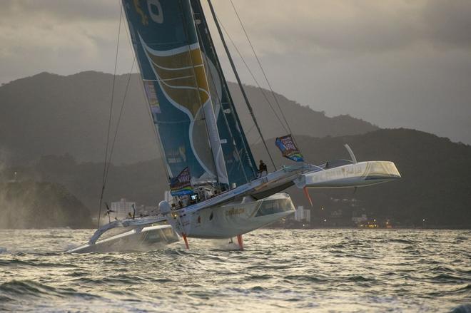
[[[242,185],[256,177],[256,164],[238,118],[200,0],[191,0],[196,31],[206,64],[218,131],[230,183]]]

